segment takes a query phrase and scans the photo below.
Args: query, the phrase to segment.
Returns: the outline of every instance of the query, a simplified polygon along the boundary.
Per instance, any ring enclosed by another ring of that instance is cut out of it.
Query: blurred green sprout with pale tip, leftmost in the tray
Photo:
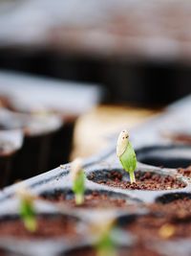
[[[16,192],[20,200],[19,215],[23,221],[25,228],[34,232],[37,228],[36,214],[33,206],[34,197],[25,187],[20,187]]]

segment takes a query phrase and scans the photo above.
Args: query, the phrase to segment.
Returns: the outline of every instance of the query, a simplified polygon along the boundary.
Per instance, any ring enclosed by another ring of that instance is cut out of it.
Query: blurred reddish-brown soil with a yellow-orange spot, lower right
[[[177,219],[168,216],[147,215],[138,217],[123,228],[138,237],[139,242],[164,241],[191,237],[191,218]]]

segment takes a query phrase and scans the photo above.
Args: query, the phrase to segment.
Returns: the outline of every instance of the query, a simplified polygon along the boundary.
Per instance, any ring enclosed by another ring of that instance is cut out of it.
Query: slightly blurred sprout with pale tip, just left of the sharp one
[[[85,192],[85,175],[82,169],[82,161],[80,158],[75,159],[72,163],[71,178],[73,181],[75,203],[80,205],[84,202]]]

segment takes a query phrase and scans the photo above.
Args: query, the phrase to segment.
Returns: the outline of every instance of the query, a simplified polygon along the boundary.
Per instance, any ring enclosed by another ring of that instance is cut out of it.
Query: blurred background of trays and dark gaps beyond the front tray
[[[1,0],[7,182],[90,156],[188,95],[190,28],[189,0]]]

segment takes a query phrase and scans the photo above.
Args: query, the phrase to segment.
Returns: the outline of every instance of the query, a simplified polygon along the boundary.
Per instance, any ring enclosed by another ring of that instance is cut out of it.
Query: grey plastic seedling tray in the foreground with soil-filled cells
[[[191,164],[190,111],[188,97],[131,130],[138,156],[137,185],[130,185],[118,162],[117,134],[110,136],[107,151],[83,162],[83,206],[74,205],[70,164],[24,181],[38,197],[35,206],[39,216],[73,220],[74,236],[32,239],[19,237],[18,232],[6,238],[0,229],[2,255],[96,255],[92,248],[96,236],[89,227],[110,217],[117,219],[120,228],[115,237],[118,255],[191,255],[191,172],[180,169]],[[188,140],[175,139],[180,134]],[[0,225],[8,218],[17,218],[14,193],[18,186],[0,193]]]

